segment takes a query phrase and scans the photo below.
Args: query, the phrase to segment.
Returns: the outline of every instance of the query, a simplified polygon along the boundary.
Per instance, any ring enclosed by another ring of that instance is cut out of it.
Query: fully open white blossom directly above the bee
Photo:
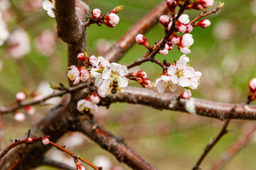
[[[128,85],[128,80],[125,75],[128,74],[127,67],[121,64],[112,62],[110,64],[110,69],[104,69],[102,72],[102,79],[108,80],[108,83],[113,79],[117,79],[119,87],[126,87]]]

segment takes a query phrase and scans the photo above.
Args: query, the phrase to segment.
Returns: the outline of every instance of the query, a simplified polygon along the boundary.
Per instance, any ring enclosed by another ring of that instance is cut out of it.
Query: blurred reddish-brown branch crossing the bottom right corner
[[[240,139],[238,139],[232,146],[230,146],[228,150],[223,154],[223,156],[213,164],[211,170],[221,169],[228,161],[230,161],[230,159],[235,156],[235,154],[238,154],[238,152],[252,140],[252,137],[255,135],[255,131],[256,125],[254,124],[250,130],[247,130],[245,134],[240,137]]]

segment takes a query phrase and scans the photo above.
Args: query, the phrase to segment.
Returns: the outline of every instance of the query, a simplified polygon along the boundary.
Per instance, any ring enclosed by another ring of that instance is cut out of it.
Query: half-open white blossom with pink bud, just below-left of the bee
[[[92,95],[87,96],[84,99],[81,99],[80,101],[78,101],[78,111],[82,112],[82,111],[97,111],[97,103],[100,103],[100,97],[97,96],[97,93],[94,92]]]

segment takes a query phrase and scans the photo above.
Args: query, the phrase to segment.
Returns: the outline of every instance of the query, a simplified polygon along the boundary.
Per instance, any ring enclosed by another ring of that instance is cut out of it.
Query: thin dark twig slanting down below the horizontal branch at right
[[[215,138],[213,142],[211,142],[209,145],[206,146],[202,156],[196,163],[196,165],[193,167],[193,170],[198,170],[200,169],[200,165],[202,164],[203,160],[206,158],[207,154],[210,152],[211,149],[220,141],[220,139],[228,133],[228,125],[230,123],[230,120],[235,113],[235,106],[234,108],[230,111],[230,118],[224,123],[222,130],[220,131],[219,135]]]

